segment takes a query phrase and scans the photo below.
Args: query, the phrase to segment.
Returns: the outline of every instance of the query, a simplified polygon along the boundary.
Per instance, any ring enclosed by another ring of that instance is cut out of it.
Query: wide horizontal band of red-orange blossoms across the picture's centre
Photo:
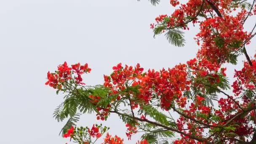
[[[140,93],[129,92],[146,103],[149,103],[152,93],[160,97],[160,104],[163,109],[168,110],[171,103],[175,100],[180,107],[184,107],[187,98],[182,97],[182,91],[189,90],[190,81],[187,80],[187,68],[185,64],[176,65],[172,69],[162,69],[160,72],[155,70],[148,70],[143,72],[143,68],[136,65],[136,67],[123,68],[121,64],[113,67],[114,72],[111,76],[104,75],[104,86],[110,87],[113,94],[125,90],[128,85],[139,86]],[[122,95],[117,96],[117,100]],[[113,100],[115,101],[115,99]],[[138,107],[138,104],[131,101],[132,108]]]

